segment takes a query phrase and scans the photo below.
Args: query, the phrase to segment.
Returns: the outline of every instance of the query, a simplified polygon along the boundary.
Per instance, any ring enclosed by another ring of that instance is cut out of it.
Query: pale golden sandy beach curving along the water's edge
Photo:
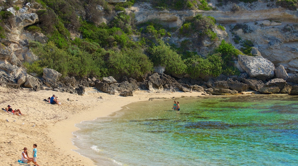
[[[43,101],[53,94],[58,96],[61,106]],[[86,94],[80,96],[47,90],[35,92],[27,88],[0,87],[0,96],[1,108],[11,105],[12,109],[20,109],[24,114],[17,116],[0,111],[0,165],[34,165],[32,162],[20,164],[17,161],[21,159],[24,147],[28,148],[29,157],[32,157],[33,144],[37,144],[37,163],[41,166],[89,166],[95,165],[91,159],[72,151],[77,149],[71,140],[75,137],[72,132],[78,130],[76,123],[108,116],[127,104],[152,97],[170,99],[204,95],[201,92],[149,93],[139,90],[134,96],[123,97],[119,93],[110,95],[89,87],[86,88]]]

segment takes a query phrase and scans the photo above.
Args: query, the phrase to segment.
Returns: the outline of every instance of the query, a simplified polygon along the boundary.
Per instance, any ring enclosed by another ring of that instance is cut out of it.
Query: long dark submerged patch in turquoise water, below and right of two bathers
[[[205,122],[193,122],[184,125],[184,127],[189,129],[229,129],[234,127],[243,127],[250,126],[248,124],[228,124],[224,122],[214,122],[214,121],[205,121]]]

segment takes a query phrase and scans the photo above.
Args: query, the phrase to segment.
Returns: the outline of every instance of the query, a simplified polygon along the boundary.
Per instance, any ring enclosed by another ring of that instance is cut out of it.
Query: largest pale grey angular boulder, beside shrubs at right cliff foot
[[[263,57],[238,55],[238,63],[250,77],[255,77],[265,81],[266,79],[270,79],[274,76],[274,64]]]

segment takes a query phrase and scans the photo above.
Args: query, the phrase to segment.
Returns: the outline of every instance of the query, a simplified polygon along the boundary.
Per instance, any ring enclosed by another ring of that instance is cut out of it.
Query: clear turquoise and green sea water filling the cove
[[[97,165],[298,165],[298,96],[237,95],[129,104],[84,121],[74,145]]]

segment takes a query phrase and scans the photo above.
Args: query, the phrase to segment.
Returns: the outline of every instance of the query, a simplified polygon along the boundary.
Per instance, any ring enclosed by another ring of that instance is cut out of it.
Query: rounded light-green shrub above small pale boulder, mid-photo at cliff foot
[[[167,73],[184,73],[186,65],[181,60],[181,55],[173,51],[164,42],[161,42],[159,46],[154,46],[150,53],[154,66],[165,66],[165,72]]]

